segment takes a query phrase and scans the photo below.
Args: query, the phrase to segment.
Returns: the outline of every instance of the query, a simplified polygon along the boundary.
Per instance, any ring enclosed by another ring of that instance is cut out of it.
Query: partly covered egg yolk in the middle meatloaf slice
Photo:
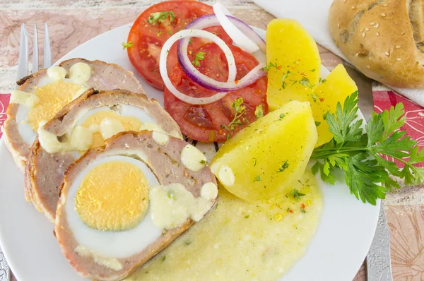
[[[124,126],[124,131],[139,131],[141,127],[141,121],[133,116],[122,116],[115,112],[110,111],[101,111],[96,112],[95,114],[90,115],[82,124],[86,128],[92,128],[93,126],[100,126],[100,123],[103,119],[110,118],[116,119],[121,122]],[[105,144],[105,140],[102,137],[102,134],[98,130],[94,130],[93,133],[93,145],[92,148],[102,146]]]

